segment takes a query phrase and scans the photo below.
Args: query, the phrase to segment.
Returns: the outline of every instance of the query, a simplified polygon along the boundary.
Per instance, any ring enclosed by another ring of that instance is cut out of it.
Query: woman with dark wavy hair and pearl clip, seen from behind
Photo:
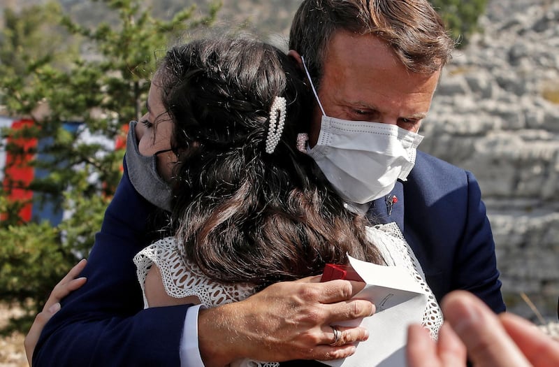
[[[145,129],[140,147],[162,133],[171,141],[154,155],[172,182],[174,236],[135,257],[146,307],[241,301],[275,282],[319,275],[325,264],[346,264],[348,254],[414,268],[395,226],[370,227],[306,154],[310,92],[300,73],[282,51],[243,38],[168,51],[136,126]]]

